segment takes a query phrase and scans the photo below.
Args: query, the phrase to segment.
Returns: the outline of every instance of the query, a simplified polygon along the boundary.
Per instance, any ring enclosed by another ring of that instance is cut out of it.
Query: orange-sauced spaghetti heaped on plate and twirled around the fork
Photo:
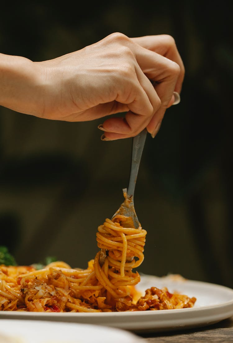
[[[65,262],[33,266],[0,265],[0,310],[42,312],[145,311],[193,307],[196,298],[151,287],[140,296],[133,272],[144,259],[146,230],[131,217],[116,215],[98,227],[101,251],[87,269]]]

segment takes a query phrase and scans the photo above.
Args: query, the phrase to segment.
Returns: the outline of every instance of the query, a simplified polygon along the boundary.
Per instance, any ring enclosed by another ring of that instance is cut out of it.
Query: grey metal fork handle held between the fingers
[[[147,129],[144,129],[140,132],[137,136],[133,138],[133,145],[132,145],[132,161],[131,161],[131,168],[130,168],[130,181],[128,184],[127,193],[128,196],[134,196],[134,189],[137,180],[137,174],[139,169],[140,160],[142,157],[142,152],[146,140]]]

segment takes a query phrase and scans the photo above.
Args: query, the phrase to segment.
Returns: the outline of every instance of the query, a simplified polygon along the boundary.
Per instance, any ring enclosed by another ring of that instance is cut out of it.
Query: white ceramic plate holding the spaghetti
[[[206,282],[176,280],[172,276],[142,275],[140,291],[155,286],[168,287],[196,297],[193,308],[159,311],[53,313],[0,311],[0,319],[34,319],[99,324],[133,331],[167,331],[206,326],[233,316],[233,289]]]

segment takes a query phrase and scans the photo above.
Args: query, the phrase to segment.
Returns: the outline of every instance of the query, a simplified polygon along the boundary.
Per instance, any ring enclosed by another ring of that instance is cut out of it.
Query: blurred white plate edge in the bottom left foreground
[[[0,321],[0,343],[137,343],[131,332],[104,326],[33,320]]]

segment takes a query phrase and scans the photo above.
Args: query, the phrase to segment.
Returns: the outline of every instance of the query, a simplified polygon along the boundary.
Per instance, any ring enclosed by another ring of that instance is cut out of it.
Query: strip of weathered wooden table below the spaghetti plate
[[[183,331],[142,334],[139,336],[142,337],[142,342],[144,343],[233,342],[233,317],[208,327]]]

